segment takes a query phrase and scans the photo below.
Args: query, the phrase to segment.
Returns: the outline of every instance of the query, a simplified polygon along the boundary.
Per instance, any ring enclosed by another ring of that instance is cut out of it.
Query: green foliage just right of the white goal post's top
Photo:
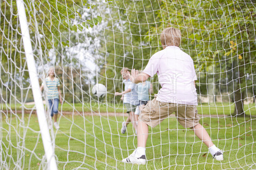
[[[89,6],[82,1],[33,1],[28,3],[31,13],[29,16],[33,21],[32,25],[38,29],[34,30],[32,34],[41,34],[41,39],[37,38],[35,41],[41,41],[42,51],[49,51],[54,49],[62,62],[61,58],[66,58],[66,49],[75,46],[79,39],[82,30],[94,27],[101,22],[101,16],[83,16],[85,8],[91,11],[95,6]],[[81,40],[80,40],[81,41]],[[50,58],[45,56],[46,61]]]

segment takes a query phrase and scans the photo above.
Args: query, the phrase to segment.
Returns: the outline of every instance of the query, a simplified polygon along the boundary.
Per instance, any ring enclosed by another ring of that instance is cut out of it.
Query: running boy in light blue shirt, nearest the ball
[[[121,133],[125,133],[127,125],[129,122],[132,122],[132,126],[134,128],[135,133],[137,134],[137,124],[135,119],[135,113],[139,112],[139,110],[136,110],[136,107],[139,105],[138,101],[138,93],[136,92],[136,84],[131,82],[128,75],[128,68],[124,67],[121,70],[122,77],[124,79],[124,91],[121,93],[116,92],[115,96],[122,96],[121,100],[123,100],[124,105],[127,109],[127,114],[129,116],[127,117],[125,122],[122,122],[122,129]]]

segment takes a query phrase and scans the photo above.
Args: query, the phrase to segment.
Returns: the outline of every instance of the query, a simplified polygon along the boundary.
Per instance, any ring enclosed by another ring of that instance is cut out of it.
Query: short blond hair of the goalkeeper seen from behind
[[[181,32],[178,29],[164,29],[160,36],[162,46],[180,46]]]

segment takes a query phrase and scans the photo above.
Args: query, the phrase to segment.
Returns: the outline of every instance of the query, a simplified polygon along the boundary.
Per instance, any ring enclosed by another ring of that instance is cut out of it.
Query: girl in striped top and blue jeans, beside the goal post
[[[45,79],[45,84],[42,83],[41,85],[41,91],[45,89],[49,108],[50,108],[50,114],[51,117],[54,119],[54,126],[55,129],[59,129],[59,124],[57,123],[58,118],[58,107],[59,107],[59,101],[62,105],[62,98],[61,98],[61,92],[60,92],[60,81],[55,77],[55,70],[54,68],[50,68],[48,71],[48,77]]]

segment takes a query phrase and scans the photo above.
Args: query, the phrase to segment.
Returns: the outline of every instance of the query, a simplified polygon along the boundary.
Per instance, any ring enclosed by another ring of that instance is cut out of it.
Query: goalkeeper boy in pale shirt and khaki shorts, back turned
[[[157,96],[148,102],[139,115],[138,148],[122,160],[131,164],[146,164],[146,140],[148,126],[154,128],[170,114],[175,112],[178,122],[184,128],[190,128],[209,148],[216,160],[224,160],[222,150],[217,148],[206,129],[199,123],[197,115],[197,80],[192,58],[179,48],[181,32],[178,29],[164,29],[160,35],[163,50],[155,53],[149,60],[143,73],[132,70],[129,79],[132,82],[145,82],[157,74],[162,88]]]

